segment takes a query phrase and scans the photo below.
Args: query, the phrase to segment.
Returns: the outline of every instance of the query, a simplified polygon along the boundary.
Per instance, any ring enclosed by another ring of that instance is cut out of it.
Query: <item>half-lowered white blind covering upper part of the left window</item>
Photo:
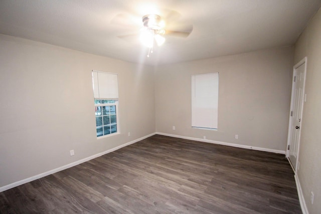
[[[95,99],[118,99],[117,74],[92,72]]]

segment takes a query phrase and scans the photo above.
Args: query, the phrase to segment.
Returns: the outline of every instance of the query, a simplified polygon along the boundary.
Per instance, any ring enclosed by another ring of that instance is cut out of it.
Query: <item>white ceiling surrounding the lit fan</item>
[[[293,45],[320,6],[321,0],[1,0],[0,33],[157,65]],[[142,16],[169,11],[181,15],[172,27],[194,30],[167,37],[149,58],[138,36],[117,37],[138,32]]]

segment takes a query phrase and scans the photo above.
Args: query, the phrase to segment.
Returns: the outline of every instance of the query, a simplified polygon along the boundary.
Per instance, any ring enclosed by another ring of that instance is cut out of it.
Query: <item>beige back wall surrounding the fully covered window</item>
[[[156,131],[285,151],[292,66],[292,47],[158,66]],[[219,72],[219,128],[194,129],[191,75],[211,72]]]

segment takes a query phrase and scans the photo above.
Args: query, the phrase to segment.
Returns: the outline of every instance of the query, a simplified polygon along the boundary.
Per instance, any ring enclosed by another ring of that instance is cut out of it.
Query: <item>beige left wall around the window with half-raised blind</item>
[[[119,135],[96,138],[91,70],[118,74]],[[155,131],[151,67],[0,35],[0,75],[0,187]]]

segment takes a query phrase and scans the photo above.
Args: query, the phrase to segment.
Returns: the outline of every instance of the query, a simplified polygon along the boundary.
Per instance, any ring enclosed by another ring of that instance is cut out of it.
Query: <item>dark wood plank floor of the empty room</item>
[[[1,213],[301,213],[284,155],[154,135],[0,193]]]

